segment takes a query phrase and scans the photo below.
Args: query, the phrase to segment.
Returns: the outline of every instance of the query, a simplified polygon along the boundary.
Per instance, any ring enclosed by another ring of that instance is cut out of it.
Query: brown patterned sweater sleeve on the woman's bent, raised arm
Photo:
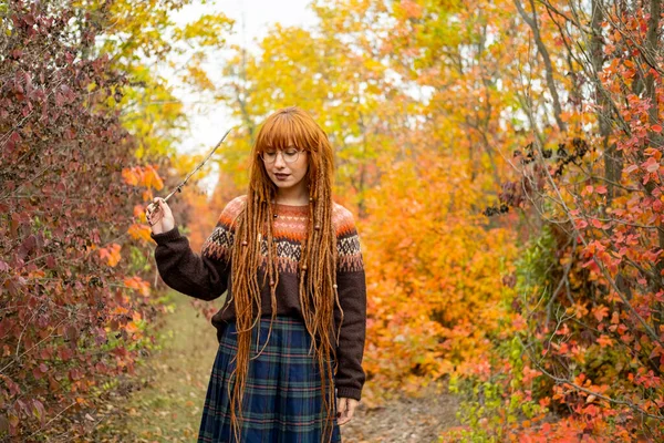
[[[203,245],[200,255],[191,250],[189,240],[180,235],[178,226],[166,233],[151,234],[157,243],[157,269],[166,285],[201,300],[214,300],[226,291],[231,268],[231,204],[235,202],[229,203],[219,216],[215,229]]]

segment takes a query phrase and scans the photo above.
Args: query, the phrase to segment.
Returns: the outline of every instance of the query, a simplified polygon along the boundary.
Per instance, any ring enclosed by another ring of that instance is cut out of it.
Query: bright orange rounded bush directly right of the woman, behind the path
[[[460,161],[423,154],[383,178],[362,223],[372,383],[471,373],[508,316],[501,279],[517,253],[513,233],[487,226],[481,188]]]

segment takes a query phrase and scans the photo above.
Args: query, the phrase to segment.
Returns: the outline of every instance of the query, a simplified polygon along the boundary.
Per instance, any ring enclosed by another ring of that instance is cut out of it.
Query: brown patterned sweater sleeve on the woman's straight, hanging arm
[[[339,260],[336,285],[344,318],[336,349],[339,368],[335,374],[335,384],[339,398],[360,400],[366,379],[362,369],[366,336],[366,282],[360,236],[353,215],[345,208],[343,213],[336,237]],[[334,318],[339,324],[341,312],[336,307]]]

